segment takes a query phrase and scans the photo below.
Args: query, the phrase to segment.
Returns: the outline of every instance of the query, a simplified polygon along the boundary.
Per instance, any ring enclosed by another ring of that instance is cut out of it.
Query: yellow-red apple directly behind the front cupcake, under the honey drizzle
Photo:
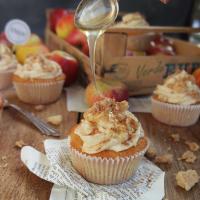
[[[99,78],[95,84],[90,83],[85,90],[85,100],[89,106],[102,100],[104,97],[113,98],[116,101],[128,100],[129,94],[126,85],[118,80]]]

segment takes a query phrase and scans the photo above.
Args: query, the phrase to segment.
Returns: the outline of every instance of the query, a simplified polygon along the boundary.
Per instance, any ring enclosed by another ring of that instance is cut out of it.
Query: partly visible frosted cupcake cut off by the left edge
[[[12,85],[12,75],[16,67],[15,55],[5,44],[0,44],[0,90]]]

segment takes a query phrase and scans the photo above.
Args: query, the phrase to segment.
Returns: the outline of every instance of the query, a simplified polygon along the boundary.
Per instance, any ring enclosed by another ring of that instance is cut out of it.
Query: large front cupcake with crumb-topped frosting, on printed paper
[[[73,167],[87,181],[118,184],[137,170],[148,140],[126,101],[95,103],[81,123],[72,128],[69,152]]]

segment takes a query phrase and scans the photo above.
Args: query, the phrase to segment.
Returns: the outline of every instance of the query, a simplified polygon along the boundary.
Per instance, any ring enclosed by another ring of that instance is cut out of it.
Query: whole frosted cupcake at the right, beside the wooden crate
[[[200,89],[194,77],[184,70],[158,85],[151,99],[152,114],[160,122],[190,126],[199,119]]]

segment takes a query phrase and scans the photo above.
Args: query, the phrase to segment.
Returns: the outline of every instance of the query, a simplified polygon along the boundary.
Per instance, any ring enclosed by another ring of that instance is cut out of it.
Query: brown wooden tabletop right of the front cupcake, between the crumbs
[[[180,170],[195,169],[200,175],[200,154],[195,152],[197,161],[194,164],[187,164],[177,159],[188,150],[184,142],[192,141],[200,145],[200,121],[191,127],[180,128],[164,125],[156,121],[150,114],[137,114],[141,121],[145,133],[150,138],[152,144],[156,147],[158,154],[171,153],[174,160],[171,166],[160,166],[166,172],[165,191],[166,198],[169,200],[199,200],[200,199],[200,182],[195,185],[189,192],[184,191],[176,186],[175,174]],[[174,142],[170,137],[171,134],[179,134],[180,142]],[[168,151],[167,149],[170,148]]]

